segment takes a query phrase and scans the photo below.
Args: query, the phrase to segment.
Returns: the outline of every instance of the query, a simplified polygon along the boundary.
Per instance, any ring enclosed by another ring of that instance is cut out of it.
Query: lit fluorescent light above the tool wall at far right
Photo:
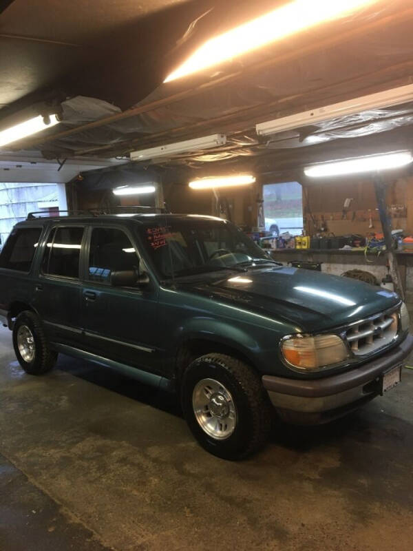
[[[334,163],[319,163],[312,167],[306,167],[304,174],[310,178],[322,178],[324,176],[340,176],[344,174],[357,174],[359,172],[375,172],[404,167],[412,163],[410,152],[386,153],[367,157],[356,157],[338,160]]]

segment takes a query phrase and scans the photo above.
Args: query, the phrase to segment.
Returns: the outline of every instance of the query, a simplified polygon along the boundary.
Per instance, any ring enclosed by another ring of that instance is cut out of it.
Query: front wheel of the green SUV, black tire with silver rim
[[[207,354],[184,372],[182,409],[194,437],[209,453],[244,459],[264,446],[272,410],[259,375],[225,354]]]

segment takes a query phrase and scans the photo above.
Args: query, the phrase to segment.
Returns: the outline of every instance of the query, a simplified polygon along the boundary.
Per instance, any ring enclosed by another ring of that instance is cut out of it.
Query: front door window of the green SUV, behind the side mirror
[[[139,258],[121,229],[94,228],[89,249],[89,280],[109,283],[112,271],[134,270]]]

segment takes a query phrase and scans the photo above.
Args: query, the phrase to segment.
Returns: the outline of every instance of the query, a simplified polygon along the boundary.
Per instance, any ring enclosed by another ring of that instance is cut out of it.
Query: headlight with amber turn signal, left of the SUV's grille
[[[284,340],[282,353],[287,363],[299,371],[321,371],[348,357],[346,344],[338,335],[296,335]]]

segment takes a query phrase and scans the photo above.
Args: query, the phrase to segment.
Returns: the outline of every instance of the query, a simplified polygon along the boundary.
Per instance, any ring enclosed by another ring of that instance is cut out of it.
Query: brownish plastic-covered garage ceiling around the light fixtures
[[[2,114],[4,124],[33,103],[63,102],[60,125],[12,151],[101,159],[222,132],[229,136],[224,150],[162,165],[196,171],[207,163],[216,171],[241,161],[275,171],[313,153],[337,154],[338,138],[343,151],[360,141],[378,147],[389,132],[394,143],[412,145],[412,105],[403,106],[400,124],[376,124],[383,117],[400,121],[396,110],[342,121],[343,134],[335,129],[335,138],[321,145],[303,138],[319,128],[297,129],[269,143],[254,132],[261,121],[412,83],[410,1],[377,1],[357,17],[167,84],[168,72],[205,39],[282,2],[39,0],[34,7],[0,0],[0,6],[7,3],[0,16],[0,48],[6,52],[0,58],[0,125]]]

